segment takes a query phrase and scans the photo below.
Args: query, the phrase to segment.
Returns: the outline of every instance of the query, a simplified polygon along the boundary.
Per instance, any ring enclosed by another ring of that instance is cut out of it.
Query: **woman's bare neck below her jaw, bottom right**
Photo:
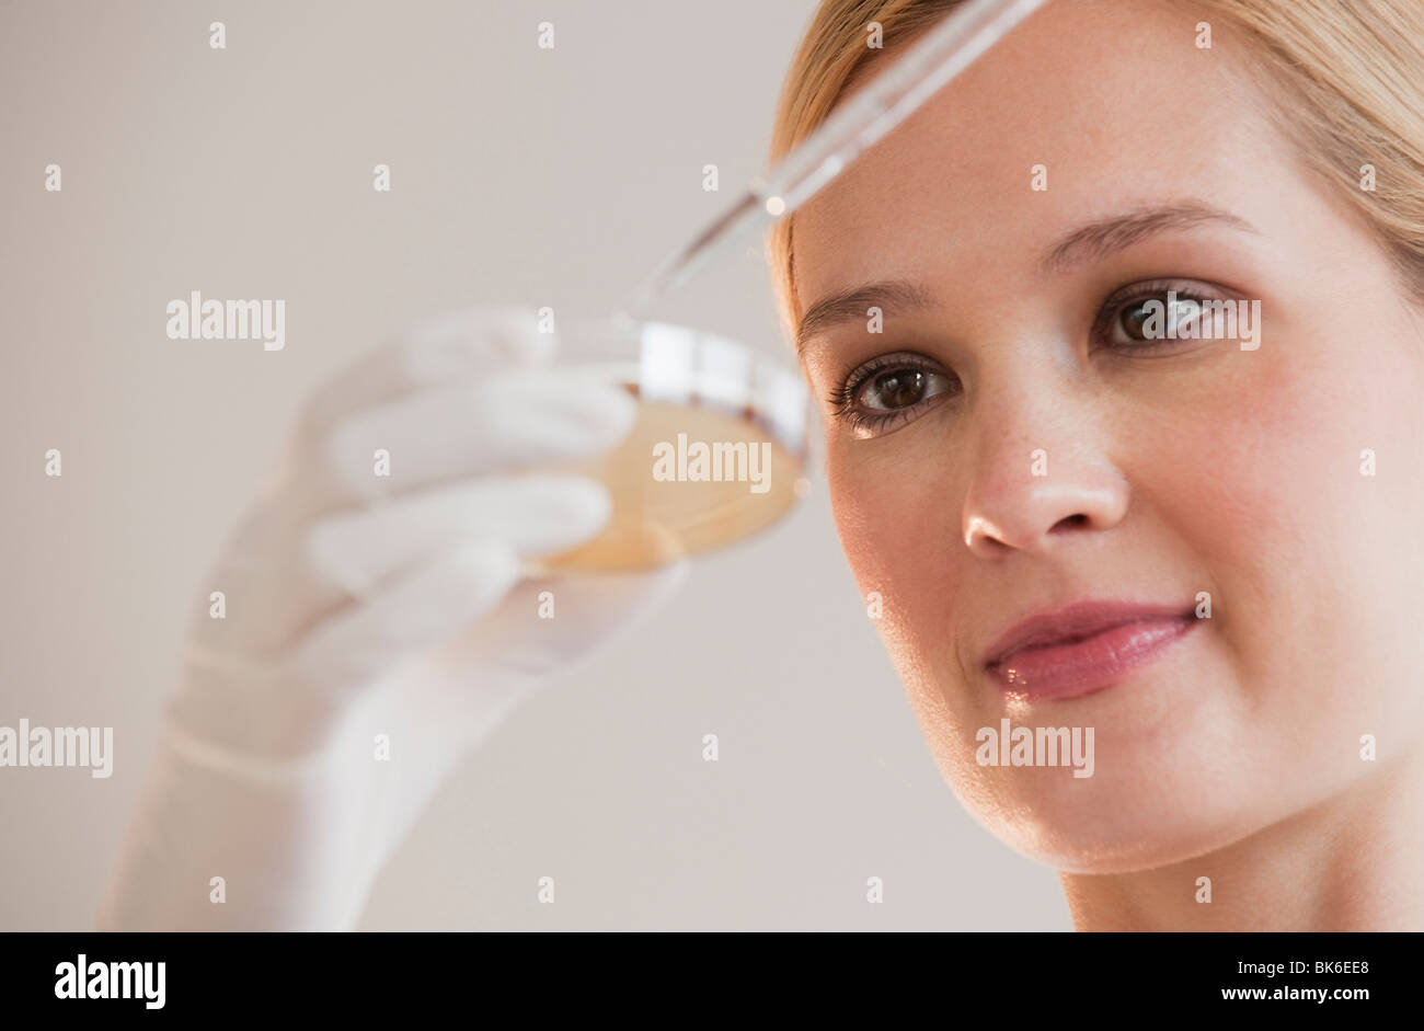
[[[1225,849],[1059,877],[1079,931],[1400,931],[1424,927],[1421,854],[1424,756],[1407,755]]]

